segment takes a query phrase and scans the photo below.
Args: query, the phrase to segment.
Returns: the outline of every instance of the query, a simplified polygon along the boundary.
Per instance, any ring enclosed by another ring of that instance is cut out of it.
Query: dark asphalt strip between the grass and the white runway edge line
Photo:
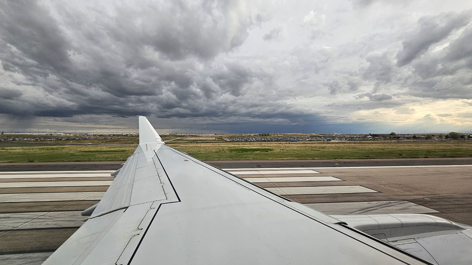
[[[346,166],[448,166],[472,165],[472,157],[451,158],[391,158],[391,159],[316,159],[316,160],[211,160],[219,168],[278,168],[278,167],[346,167]],[[124,161],[111,162],[44,162],[0,163],[5,171],[80,171],[116,170]],[[338,165],[336,165],[336,163]]]

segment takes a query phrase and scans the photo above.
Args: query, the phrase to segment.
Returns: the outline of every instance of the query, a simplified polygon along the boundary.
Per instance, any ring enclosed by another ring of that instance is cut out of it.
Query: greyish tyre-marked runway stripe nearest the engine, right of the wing
[[[404,200],[307,203],[327,215],[425,214],[438,211]]]

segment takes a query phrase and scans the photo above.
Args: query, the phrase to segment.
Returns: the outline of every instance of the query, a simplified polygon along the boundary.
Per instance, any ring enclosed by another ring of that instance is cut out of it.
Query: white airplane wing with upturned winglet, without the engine
[[[139,130],[90,218],[43,264],[425,264],[166,146],[143,116]]]

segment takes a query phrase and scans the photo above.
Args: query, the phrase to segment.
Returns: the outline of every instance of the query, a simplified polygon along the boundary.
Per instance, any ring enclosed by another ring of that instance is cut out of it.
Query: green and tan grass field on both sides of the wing
[[[173,144],[201,160],[472,157],[472,141]],[[0,148],[0,162],[124,161],[135,146]]]

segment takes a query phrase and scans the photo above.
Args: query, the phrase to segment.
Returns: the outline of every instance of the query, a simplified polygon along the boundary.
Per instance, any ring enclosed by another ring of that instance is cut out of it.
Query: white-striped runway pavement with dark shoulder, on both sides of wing
[[[209,162],[326,214],[425,213],[472,224],[471,160]],[[0,165],[0,264],[41,264],[83,224],[80,212],[121,165],[78,163]]]

